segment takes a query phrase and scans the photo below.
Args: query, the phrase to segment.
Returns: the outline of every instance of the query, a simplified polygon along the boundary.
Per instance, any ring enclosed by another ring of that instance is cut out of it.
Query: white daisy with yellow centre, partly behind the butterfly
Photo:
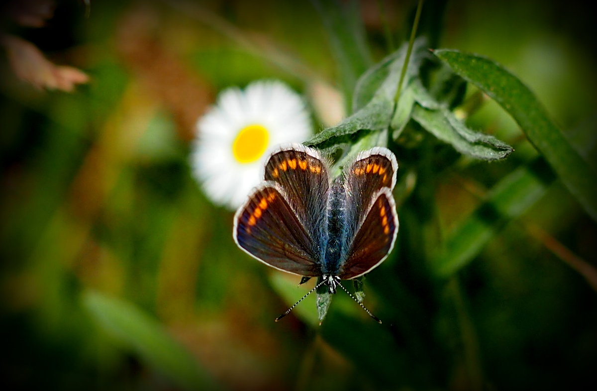
[[[306,140],[311,129],[303,100],[281,82],[229,88],[197,123],[193,174],[215,204],[235,210],[262,180],[270,151]]]

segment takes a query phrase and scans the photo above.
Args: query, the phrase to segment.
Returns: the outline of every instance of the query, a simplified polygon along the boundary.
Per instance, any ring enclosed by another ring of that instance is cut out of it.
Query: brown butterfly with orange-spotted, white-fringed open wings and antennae
[[[233,238],[257,260],[284,272],[321,278],[330,294],[340,281],[370,272],[392,251],[398,215],[392,196],[398,163],[387,148],[358,153],[342,175],[330,177],[321,152],[302,144],[273,151],[264,181],[234,217]],[[279,321],[301,300],[276,318]]]

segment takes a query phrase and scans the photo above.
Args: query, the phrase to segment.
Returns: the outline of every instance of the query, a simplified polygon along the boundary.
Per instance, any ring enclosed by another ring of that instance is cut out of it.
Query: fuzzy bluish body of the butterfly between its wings
[[[327,211],[327,243],[325,259],[322,262],[321,272],[325,275],[337,275],[340,262],[346,249],[342,248],[343,232],[346,226],[346,193],[337,178],[332,184],[328,198]]]

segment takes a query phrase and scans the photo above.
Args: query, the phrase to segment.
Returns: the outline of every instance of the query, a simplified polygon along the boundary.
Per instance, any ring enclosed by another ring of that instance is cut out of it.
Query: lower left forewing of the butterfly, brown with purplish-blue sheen
[[[287,199],[277,183],[262,183],[236,211],[233,238],[242,250],[269,266],[319,276],[318,249]]]

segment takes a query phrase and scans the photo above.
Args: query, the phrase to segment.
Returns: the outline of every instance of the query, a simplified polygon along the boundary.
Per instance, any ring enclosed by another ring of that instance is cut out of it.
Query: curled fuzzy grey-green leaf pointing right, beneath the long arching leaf
[[[493,136],[470,130],[447,107],[431,110],[416,104],[412,115],[433,136],[473,158],[493,161],[506,158],[513,151]]]

